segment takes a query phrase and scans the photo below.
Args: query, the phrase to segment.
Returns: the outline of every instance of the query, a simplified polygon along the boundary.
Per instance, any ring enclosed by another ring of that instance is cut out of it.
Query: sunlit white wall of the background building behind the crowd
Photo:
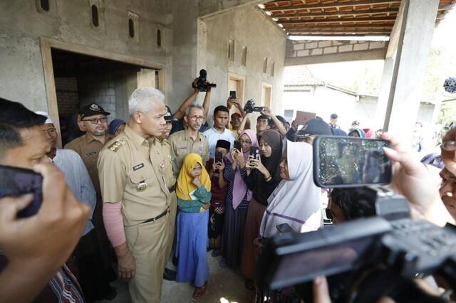
[[[329,122],[332,113],[338,115],[338,124],[348,130],[353,120],[361,122],[361,127],[379,129],[383,124],[375,121],[378,97],[354,96],[333,90],[326,86],[286,86],[284,90],[281,114],[284,110],[302,110],[315,112]],[[435,105],[421,102],[418,121],[432,123]]]

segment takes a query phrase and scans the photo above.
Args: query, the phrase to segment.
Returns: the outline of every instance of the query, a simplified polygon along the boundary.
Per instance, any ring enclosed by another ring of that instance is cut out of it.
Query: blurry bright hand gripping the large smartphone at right
[[[385,148],[385,154],[393,160],[393,188],[407,198],[413,218],[425,218],[443,226],[450,219],[440,199],[430,171],[420,161],[413,158],[392,135],[384,132],[381,139],[390,141],[392,149]]]

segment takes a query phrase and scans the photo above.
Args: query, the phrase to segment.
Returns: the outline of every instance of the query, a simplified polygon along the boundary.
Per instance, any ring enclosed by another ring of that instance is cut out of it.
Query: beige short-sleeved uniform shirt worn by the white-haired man
[[[122,201],[125,226],[155,218],[167,210],[162,146],[128,125],[100,151],[98,171],[103,203]]]

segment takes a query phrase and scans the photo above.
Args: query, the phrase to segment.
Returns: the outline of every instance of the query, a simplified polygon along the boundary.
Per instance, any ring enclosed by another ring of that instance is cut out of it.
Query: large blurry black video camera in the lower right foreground
[[[332,302],[413,301],[426,294],[415,277],[438,274],[456,289],[456,228],[439,228],[410,219],[408,202],[384,188],[376,191],[377,216],[360,218],[310,233],[285,233],[266,242],[269,270],[257,272],[269,289],[296,286],[304,302],[313,302],[312,280],[328,277]],[[404,301],[400,298],[406,297]]]

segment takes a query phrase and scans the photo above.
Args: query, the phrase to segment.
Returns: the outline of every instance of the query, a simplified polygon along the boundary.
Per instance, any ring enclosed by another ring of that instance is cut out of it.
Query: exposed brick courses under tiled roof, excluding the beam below
[[[356,52],[359,50],[378,50],[387,48],[385,41],[291,41],[291,58]]]

